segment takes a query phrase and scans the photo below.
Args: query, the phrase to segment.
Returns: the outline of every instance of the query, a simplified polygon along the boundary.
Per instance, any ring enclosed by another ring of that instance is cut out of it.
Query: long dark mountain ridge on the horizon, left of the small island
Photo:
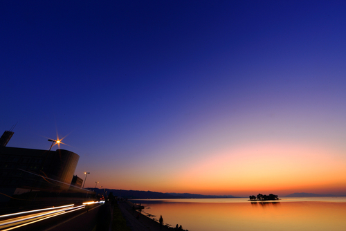
[[[99,189],[95,187],[89,187],[88,190],[94,191],[98,194],[104,194],[107,192],[113,193],[113,196],[118,196],[128,199],[174,199],[174,198],[236,198],[236,196],[225,195],[201,195],[201,194],[189,194],[189,193],[163,193],[163,192],[152,192],[152,191],[137,191],[137,190],[109,190],[109,189]]]

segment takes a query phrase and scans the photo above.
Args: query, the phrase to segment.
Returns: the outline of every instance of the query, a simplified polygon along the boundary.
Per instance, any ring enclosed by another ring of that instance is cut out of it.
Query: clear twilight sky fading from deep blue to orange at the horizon
[[[85,187],[346,195],[345,10],[1,1],[0,132],[64,138]]]

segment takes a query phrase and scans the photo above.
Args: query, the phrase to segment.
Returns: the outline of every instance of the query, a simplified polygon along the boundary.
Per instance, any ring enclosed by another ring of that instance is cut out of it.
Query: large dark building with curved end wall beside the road
[[[64,149],[46,151],[0,147],[0,192],[68,190],[80,156]],[[0,201],[8,198],[0,194]]]

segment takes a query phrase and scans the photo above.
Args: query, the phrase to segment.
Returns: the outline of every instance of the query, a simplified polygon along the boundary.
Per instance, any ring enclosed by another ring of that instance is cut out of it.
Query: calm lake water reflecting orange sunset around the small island
[[[144,214],[189,231],[346,230],[346,197],[282,198],[251,202],[248,198],[134,201]]]

